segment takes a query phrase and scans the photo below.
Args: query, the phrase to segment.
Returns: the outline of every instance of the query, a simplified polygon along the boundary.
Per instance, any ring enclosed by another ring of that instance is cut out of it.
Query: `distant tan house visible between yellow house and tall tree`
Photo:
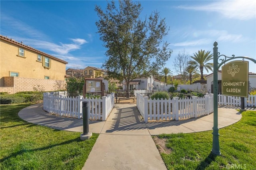
[[[87,78],[105,77],[107,75],[107,70],[88,66],[83,69],[83,75]]]

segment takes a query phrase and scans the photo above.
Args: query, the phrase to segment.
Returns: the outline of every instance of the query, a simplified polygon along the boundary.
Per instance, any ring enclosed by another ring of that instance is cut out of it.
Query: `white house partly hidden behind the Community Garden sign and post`
[[[222,71],[219,70],[218,71],[218,93],[222,93],[222,87],[221,87],[221,76],[222,74]],[[256,88],[256,73],[252,73],[252,72],[249,72],[248,73],[248,77],[249,77],[249,90],[250,88]],[[213,73],[207,75],[206,77],[206,81],[207,81],[207,91],[208,93],[213,93]]]

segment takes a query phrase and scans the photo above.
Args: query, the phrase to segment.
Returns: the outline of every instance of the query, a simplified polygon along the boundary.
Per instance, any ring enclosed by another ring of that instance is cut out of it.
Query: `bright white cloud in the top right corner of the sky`
[[[256,18],[255,0],[218,1],[203,6],[178,6],[178,8],[206,12],[218,12],[226,18],[234,18],[239,20]]]

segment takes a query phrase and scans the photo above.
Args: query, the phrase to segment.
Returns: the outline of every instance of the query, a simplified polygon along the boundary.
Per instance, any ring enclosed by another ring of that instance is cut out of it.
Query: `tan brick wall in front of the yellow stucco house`
[[[66,89],[66,81],[52,79],[30,79],[24,77],[3,77],[4,87],[0,87],[0,92],[8,92],[10,94],[19,91],[34,91],[34,87],[43,91],[55,91]],[[61,88],[57,83],[61,84]]]

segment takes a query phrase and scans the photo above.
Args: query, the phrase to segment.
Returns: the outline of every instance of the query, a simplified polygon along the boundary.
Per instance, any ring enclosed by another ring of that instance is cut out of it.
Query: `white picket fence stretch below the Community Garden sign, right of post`
[[[218,105],[241,106],[241,97],[218,95]],[[256,95],[244,97],[245,107],[256,107]]]

